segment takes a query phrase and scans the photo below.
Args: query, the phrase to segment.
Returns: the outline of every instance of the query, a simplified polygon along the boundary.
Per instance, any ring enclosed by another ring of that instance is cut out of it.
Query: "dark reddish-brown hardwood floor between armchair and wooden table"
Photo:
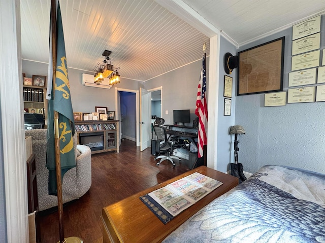
[[[103,207],[188,171],[188,167],[164,161],[158,167],[150,148],[140,152],[135,142],[124,140],[120,152],[92,155],[92,184],[78,200],[63,206],[64,237],[78,236],[85,243],[103,242]],[[41,242],[59,241],[56,208],[38,214]]]

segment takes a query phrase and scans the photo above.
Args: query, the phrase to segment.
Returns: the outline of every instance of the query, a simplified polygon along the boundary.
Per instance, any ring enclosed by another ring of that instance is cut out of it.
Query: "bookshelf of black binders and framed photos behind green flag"
[[[23,100],[25,113],[42,114],[47,124],[46,87],[23,85]]]

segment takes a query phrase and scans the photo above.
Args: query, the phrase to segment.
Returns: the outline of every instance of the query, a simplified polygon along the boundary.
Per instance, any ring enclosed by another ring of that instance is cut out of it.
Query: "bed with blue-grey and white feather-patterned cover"
[[[163,242],[325,242],[325,175],[264,166]]]

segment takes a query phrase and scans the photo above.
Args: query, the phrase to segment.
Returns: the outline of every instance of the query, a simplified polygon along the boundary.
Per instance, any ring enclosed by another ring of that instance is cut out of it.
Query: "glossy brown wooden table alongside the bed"
[[[194,172],[221,181],[223,184],[177,215],[167,224],[161,222],[139,199],[151,191],[166,186]],[[103,242],[161,242],[188,218],[197,213],[213,199],[238,185],[238,178],[207,168],[198,167],[168,181],[129,196],[103,208]],[[132,186],[132,185],[130,185]]]

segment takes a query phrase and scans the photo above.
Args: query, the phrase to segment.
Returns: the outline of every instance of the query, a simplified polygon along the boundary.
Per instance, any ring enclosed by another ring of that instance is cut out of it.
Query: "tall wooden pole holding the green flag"
[[[55,87],[55,72],[56,72],[56,3],[51,0],[51,25],[52,25],[52,68],[53,81],[52,86]],[[52,92],[54,96],[54,92]],[[62,200],[62,185],[61,185],[61,161],[60,161],[60,140],[59,140],[59,125],[58,113],[54,111],[54,139],[55,139],[55,166],[56,166],[56,187],[57,187],[57,210],[59,217],[59,234],[60,243],[64,242],[64,227],[63,227],[63,200]]]

